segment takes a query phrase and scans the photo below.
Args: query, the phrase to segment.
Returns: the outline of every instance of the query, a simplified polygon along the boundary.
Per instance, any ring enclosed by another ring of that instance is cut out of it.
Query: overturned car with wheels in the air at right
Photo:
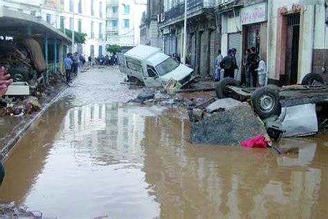
[[[264,121],[273,139],[316,134],[328,121],[328,87],[310,73],[302,85],[260,88],[239,86],[233,78],[224,78],[216,87],[217,97],[248,101]]]

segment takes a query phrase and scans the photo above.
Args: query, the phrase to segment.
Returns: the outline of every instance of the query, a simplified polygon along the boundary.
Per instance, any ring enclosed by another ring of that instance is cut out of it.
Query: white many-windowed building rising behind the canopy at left
[[[73,51],[86,56],[106,53],[106,0],[1,0],[0,4],[40,17],[64,33],[66,29],[86,33],[85,44],[75,45]]]

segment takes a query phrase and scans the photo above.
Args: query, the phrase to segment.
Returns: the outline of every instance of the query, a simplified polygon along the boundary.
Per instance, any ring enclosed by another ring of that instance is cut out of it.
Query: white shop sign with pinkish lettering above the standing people
[[[241,24],[254,24],[266,21],[266,3],[259,3],[240,10]]]

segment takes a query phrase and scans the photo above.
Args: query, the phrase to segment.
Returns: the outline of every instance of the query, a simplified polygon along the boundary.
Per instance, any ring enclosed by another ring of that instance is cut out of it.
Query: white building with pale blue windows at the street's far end
[[[125,49],[140,44],[140,22],[145,0],[107,0],[106,36],[108,44]]]

